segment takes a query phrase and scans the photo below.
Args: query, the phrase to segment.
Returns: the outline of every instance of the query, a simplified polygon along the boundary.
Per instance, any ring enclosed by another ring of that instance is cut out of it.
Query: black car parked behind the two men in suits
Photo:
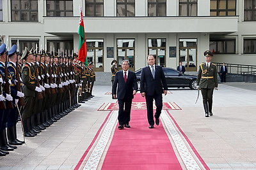
[[[189,87],[196,89],[197,76],[183,74],[173,68],[163,67],[164,76],[168,87]],[[141,69],[135,72],[137,76],[138,89],[140,90]]]

